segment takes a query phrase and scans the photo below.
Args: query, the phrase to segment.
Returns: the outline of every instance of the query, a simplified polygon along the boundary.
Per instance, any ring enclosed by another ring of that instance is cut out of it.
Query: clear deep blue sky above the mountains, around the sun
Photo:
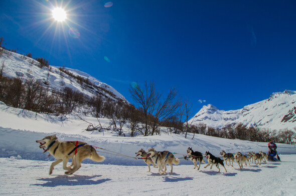
[[[164,95],[175,87],[192,115],[204,104],[239,109],[296,90],[295,0],[108,2],[1,0],[0,37],[7,48],[89,73],[131,103],[133,81],[154,80]],[[56,6],[67,11],[64,22],[52,18]]]

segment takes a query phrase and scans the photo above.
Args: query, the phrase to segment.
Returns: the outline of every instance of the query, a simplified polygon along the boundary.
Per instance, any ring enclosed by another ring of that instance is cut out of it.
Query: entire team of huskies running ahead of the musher
[[[63,168],[67,170],[65,173],[73,174],[81,167],[82,160],[86,158],[90,158],[97,162],[105,160],[104,156],[97,154],[93,146],[82,141],[60,141],[58,140],[56,135],[49,135],[44,137],[43,139],[36,140],[36,142],[40,143],[39,147],[43,148],[44,152],[49,151],[50,154],[57,159],[51,164],[49,174],[52,174],[54,166],[62,161]],[[152,164],[154,167],[159,169],[159,173],[161,175],[167,173],[167,164],[171,166],[172,174],[173,164],[177,165],[180,163],[179,158],[175,158],[173,153],[167,150],[156,151],[154,148],[150,148],[148,149],[148,151],[145,151],[144,149],[140,149],[135,154],[136,156],[140,156],[145,161],[149,168],[148,171],[151,170],[150,165]],[[227,172],[223,163],[224,160],[227,166],[233,166],[233,162],[235,159],[235,161],[239,165],[239,168],[242,169],[243,163],[247,165],[246,161],[248,161],[249,165],[249,161],[260,165],[262,161],[266,163],[267,159],[267,154],[262,151],[259,151],[259,153],[248,152],[248,156],[242,154],[241,152],[237,152],[234,154],[226,153],[224,150],[222,150],[220,154],[222,155],[223,159],[214,156],[209,151],[206,151],[203,155],[199,151],[193,151],[192,147],[188,147],[187,155],[184,158],[189,158],[193,162],[194,168],[197,168],[197,170],[199,170],[201,163],[205,163],[203,157],[206,157],[208,164],[204,168],[211,165],[210,169],[212,169],[213,165],[215,165],[219,169],[218,172],[220,172],[220,165],[225,169],[225,172]],[[67,166],[70,158],[72,158],[72,164],[70,166]],[[229,162],[229,165],[227,164],[227,162]],[[198,166],[197,163],[199,163]]]

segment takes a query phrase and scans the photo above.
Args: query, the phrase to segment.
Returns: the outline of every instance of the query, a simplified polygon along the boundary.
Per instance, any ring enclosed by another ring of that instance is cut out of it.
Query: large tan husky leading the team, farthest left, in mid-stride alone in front
[[[105,160],[104,156],[97,154],[94,147],[82,141],[60,141],[56,135],[49,135],[43,139],[36,140],[39,147],[49,151],[57,160],[50,165],[49,174],[52,174],[54,166],[63,161],[63,168],[67,170],[65,174],[73,174],[81,167],[81,161],[90,158],[96,162]],[[67,166],[69,159],[72,164]],[[71,167],[73,166],[73,168]]]

